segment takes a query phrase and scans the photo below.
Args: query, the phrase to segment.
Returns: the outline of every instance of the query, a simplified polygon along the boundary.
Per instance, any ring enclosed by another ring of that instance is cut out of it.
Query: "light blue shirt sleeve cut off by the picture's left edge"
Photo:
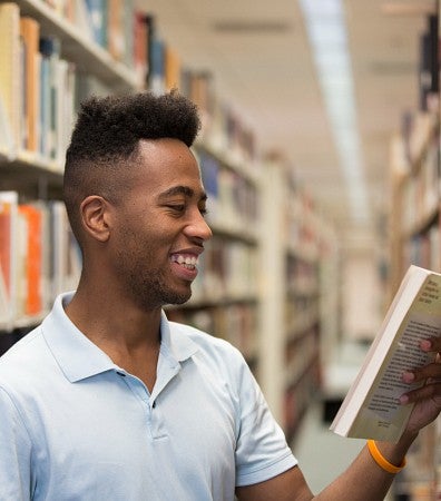
[[[0,501],[31,499],[31,443],[9,394],[0,387]]]

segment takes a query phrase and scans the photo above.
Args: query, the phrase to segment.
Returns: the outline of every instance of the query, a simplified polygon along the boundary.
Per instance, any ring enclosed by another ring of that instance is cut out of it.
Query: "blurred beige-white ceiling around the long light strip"
[[[398,0],[393,3],[404,9],[395,14],[384,11],[391,1],[342,1],[372,214],[366,224],[351,218],[297,1],[138,0],[138,4],[155,16],[158,33],[183,65],[213,72],[216,94],[255,131],[261,150],[282,151],[336,227],[367,242],[378,214],[388,209],[389,140],[403,112],[419,106],[419,40],[427,29],[424,12],[434,11],[435,0]],[[238,21],[280,29],[215,28]]]

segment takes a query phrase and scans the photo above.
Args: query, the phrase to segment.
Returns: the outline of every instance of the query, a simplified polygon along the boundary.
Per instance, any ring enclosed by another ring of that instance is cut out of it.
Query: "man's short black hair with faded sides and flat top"
[[[196,106],[173,90],[163,95],[91,97],[81,104],[66,153],[63,199],[81,246],[79,206],[89,195],[110,202],[130,187],[140,139],[174,138],[193,145],[200,128]]]

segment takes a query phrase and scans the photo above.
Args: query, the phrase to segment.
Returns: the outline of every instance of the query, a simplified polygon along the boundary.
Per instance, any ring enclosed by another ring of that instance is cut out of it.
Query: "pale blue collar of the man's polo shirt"
[[[63,305],[71,301],[74,294],[74,292],[60,294],[41,325],[49,350],[71,383],[120,369],[67,316]],[[198,350],[198,346],[180,330],[171,328],[164,312],[160,318],[160,354],[173,365],[189,358]]]

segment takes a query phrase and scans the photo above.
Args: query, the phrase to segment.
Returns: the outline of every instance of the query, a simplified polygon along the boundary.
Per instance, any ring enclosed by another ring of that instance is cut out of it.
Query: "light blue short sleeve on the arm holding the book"
[[[245,362],[241,366],[236,485],[272,479],[297,464]]]

